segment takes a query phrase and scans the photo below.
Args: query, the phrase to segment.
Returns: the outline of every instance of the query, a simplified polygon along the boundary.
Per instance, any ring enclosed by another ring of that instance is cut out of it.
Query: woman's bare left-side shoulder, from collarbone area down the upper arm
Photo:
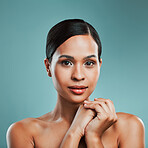
[[[33,148],[34,138],[42,133],[45,123],[38,118],[26,118],[11,124],[6,134],[7,146]]]

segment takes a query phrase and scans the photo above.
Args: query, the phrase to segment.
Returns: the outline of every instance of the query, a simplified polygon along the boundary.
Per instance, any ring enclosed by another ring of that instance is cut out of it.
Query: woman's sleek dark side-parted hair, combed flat
[[[92,25],[81,19],[67,19],[53,26],[47,35],[46,58],[51,62],[56,49],[67,39],[75,35],[91,35],[98,45],[100,61],[102,46],[99,35]]]

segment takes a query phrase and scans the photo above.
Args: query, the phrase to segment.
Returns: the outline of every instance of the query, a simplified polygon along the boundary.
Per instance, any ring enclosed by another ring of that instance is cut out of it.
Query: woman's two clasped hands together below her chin
[[[77,110],[71,128],[82,136],[101,138],[103,133],[117,121],[114,104],[110,99],[95,98],[84,101]]]

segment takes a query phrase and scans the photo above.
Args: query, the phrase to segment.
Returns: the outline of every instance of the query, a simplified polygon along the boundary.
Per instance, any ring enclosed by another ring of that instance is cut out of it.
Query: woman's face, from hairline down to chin
[[[76,35],[61,44],[49,66],[59,97],[73,103],[88,99],[97,84],[101,63],[90,35]]]

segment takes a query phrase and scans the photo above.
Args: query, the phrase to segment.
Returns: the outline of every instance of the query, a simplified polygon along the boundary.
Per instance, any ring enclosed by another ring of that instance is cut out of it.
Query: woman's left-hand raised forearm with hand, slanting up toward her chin
[[[93,119],[95,112],[85,109],[80,105],[75,118],[67,131],[60,148],[78,148],[81,138],[84,136],[84,130],[87,124]]]

